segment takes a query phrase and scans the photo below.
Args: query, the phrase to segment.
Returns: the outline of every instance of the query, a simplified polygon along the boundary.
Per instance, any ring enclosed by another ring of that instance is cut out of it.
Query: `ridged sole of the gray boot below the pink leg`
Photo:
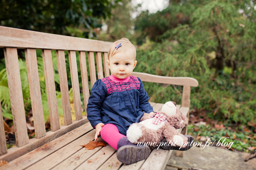
[[[123,164],[132,164],[146,159],[150,155],[150,148],[139,148],[136,146],[125,145],[117,150],[117,159]]]

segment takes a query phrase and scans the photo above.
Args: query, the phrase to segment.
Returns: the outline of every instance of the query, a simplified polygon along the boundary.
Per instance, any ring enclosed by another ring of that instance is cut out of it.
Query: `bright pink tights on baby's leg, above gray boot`
[[[125,135],[120,134],[116,125],[114,124],[105,124],[101,131],[100,136],[103,140],[105,140],[110,146],[112,146],[115,150],[117,150],[117,143]]]

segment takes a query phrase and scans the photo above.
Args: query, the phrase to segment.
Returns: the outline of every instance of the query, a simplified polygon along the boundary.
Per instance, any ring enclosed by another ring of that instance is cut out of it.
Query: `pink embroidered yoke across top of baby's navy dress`
[[[135,76],[130,76],[130,80],[127,83],[114,82],[109,77],[101,79],[106,85],[107,93],[110,94],[114,91],[126,91],[130,89],[140,89],[140,81]]]

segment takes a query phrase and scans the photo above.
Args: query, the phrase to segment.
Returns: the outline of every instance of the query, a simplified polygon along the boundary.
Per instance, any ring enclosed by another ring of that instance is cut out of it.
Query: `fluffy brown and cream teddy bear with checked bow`
[[[187,143],[194,141],[190,135],[183,135],[176,131],[182,129],[188,123],[188,118],[176,108],[173,101],[166,102],[160,112],[154,114],[144,113],[140,122],[133,123],[127,130],[126,136],[131,143],[152,143],[157,145],[149,145],[151,149],[158,146],[158,143],[170,142],[168,146],[161,146],[167,150],[188,150],[191,145]]]

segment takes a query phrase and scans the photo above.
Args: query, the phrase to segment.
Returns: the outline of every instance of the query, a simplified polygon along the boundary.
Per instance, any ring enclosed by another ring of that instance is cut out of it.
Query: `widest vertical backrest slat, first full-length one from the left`
[[[28,143],[28,133],[19,73],[17,48],[4,48],[4,56],[12,106],[16,145],[18,147],[22,147]]]

